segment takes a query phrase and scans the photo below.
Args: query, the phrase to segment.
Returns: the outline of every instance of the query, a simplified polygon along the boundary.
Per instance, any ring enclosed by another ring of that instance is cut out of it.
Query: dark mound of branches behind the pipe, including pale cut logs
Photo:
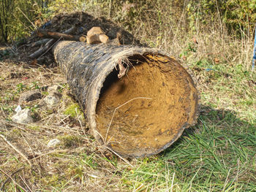
[[[26,44],[26,53],[37,64],[42,63],[49,50],[61,40],[88,44],[140,45],[138,39],[115,23],[105,18],[93,18],[86,12],[56,15],[34,31],[34,34]]]

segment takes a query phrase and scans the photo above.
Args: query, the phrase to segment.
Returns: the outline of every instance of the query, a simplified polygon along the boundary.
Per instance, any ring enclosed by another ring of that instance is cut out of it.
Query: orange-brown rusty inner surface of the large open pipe
[[[122,155],[159,153],[195,123],[197,91],[172,58],[148,54],[129,61],[133,67],[121,80],[116,70],[105,80],[97,103],[97,128]],[[116,107],[120,108],[114,113]]]

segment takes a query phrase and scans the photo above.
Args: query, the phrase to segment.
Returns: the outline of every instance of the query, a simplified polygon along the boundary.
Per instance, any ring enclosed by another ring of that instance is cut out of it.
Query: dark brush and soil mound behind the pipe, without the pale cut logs
[[[53,66],[55,61],[50,49],[56,45],[56,42],[63,39],[79,40],[79,38],[84,42],[86,41],[84,37],[86,37],[87,32],[94,26],[99,26],[109,40],[118,37],[121,45],[140,45],[139,40],[135,39],[132,34],[129,34],[128,31],[125,31],[110,20],[94,18],[86,12],[61,13],[34,31],[31,37],[26,39],[26,45],[20,47],[22,52],[21,60],[29,61],[31,65]],[[61,37],[52,35],[49,38],[45,38],[47,37],[45,32],[53,32],[57,35],[58,33],[63,33],[70,36],[65,38],[63,35]]]

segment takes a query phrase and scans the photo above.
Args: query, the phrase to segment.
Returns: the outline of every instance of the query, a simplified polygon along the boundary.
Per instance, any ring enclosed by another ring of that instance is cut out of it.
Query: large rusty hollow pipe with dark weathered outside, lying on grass
[[[159,50],[63,41],[53,53],[94,137],[120,155],[157,154],[197,120],[192,77]]]

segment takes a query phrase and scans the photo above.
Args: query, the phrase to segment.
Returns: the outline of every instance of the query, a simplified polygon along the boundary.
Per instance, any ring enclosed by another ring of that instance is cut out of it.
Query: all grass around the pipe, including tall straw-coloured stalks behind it
[[[146,8],[141,9],[146,14]],[[95,10],[94,15],[105,14],[99,12],[99,7]],[[129,15],[120,19],[120,14],[116,12],[113,20],[127,25]],[[66,86],[56,109],[37,108],[41,117],[37,123],[12,123],[10,117],[21,93],[45,85],[64,85],[65,80],[58,68],[30,68],[4,52],[0,54],[0,134],[26,154],[34,167],[30,169],[0,137],[2,191],[24,191],[20,186],[26,191],[255,191],[256,73],[251,70],[252,36],[227,36],[216,23],[207,30],[197,27],[181,35],[183,20],[175,26],[176,20],[167,20],[170,15],[162,11],[158,18],[161,22],[156,24],[145,14],[141,16],[148,17],[141,22],[143,27],[135,22],[129,29],[149,45],[179,58],[193,74],[202,103],[197,125],[185,130],[158,155],[127,159],[130,166],[99,147],[87,126],[81,126],[78,105],[67,96]],[[165,31],[170,28],[168,36]],[[13,71],[18,75],[12,75]],[[37,101],[23,107],[35,104]],[[46,147],[54,138],[61,144]],[[8,180],[7,174],[16,183]]]

